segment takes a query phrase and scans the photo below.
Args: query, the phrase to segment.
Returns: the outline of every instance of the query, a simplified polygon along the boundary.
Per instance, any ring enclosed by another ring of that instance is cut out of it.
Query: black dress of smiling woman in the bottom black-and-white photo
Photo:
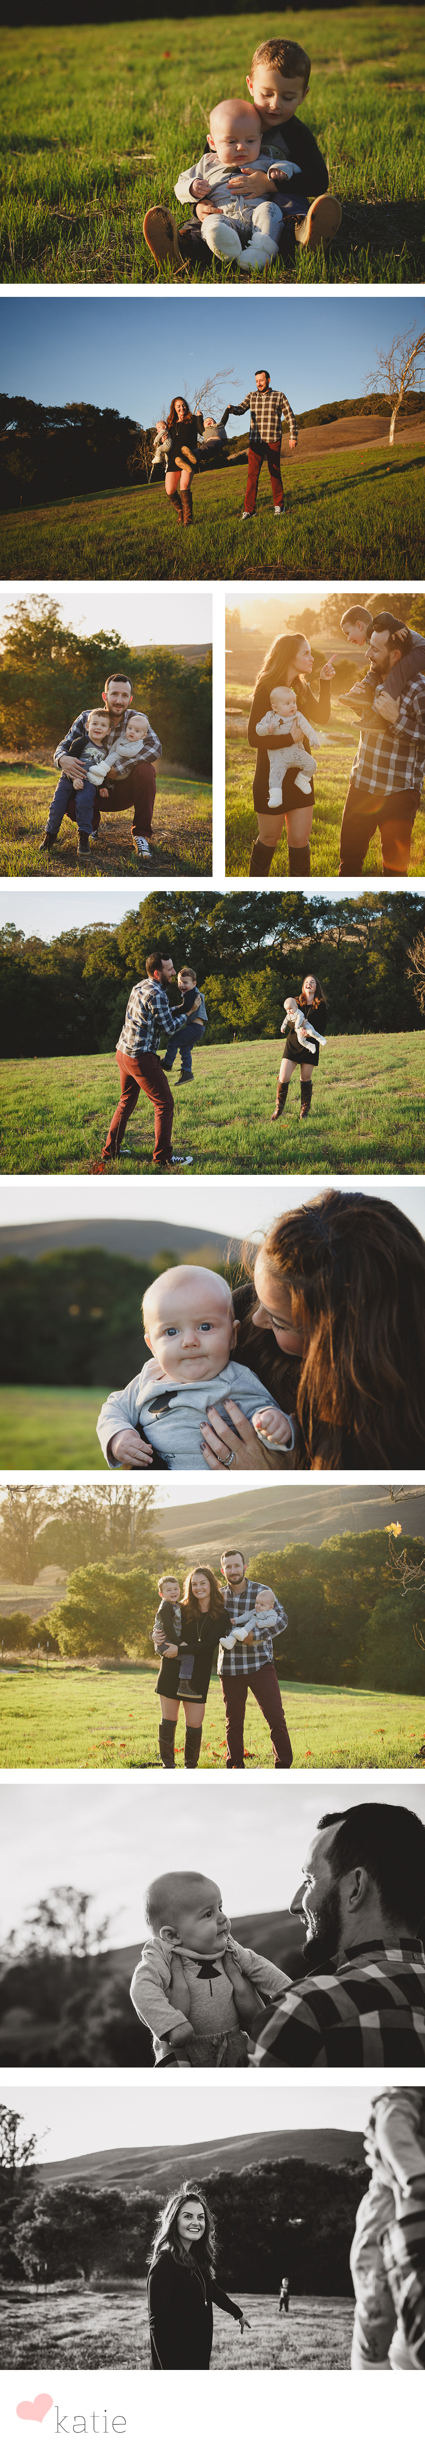
[[[147,2279],[151,2372],[210,2372],[212,2304],[242,2321],[239,2304],[198,2267],[176,2260],[166,2245]]]

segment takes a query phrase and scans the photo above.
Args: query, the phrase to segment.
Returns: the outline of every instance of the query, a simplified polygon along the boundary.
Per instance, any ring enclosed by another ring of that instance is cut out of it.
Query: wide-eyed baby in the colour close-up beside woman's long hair
[[[142,1471],[161,1454],[169,1471],[208,1471],[205,1405],[208,1410],[215,1405],[230,1427],[227,1405],[237,1403],[264,1444],[293,1447],[288,1415],[269,1403],[254,1371],[232,1359],[237,1319],[222,1275],[205,1266],[164,1268],[144,1293],[144,1342],[151,1361],[122,1393],[107,1395],[98,1417],[98,1439],[110,1469],[120,1464]]]

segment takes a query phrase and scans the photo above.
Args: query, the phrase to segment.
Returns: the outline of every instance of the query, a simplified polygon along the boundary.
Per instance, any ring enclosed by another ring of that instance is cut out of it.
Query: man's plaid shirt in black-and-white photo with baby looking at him
[[[420,1939],[347,1946],[254,2022],[256,2066],[425,2066]]]

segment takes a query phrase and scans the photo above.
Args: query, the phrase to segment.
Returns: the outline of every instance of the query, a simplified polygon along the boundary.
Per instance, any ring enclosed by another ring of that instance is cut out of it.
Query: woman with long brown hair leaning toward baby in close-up
[[[249,1273],[249,1251],[247,1251]],[[239,1354],[281,1408],[293,1408],[296,1447],[281,1469],[423,1469],[425,1464],[425,1241],[393,1200],[325,1190],[271,1224],[254,1258],[256,1305]],[[237,1310],[237,1295],[234,1295]],[[256,1332],[261,1346],[256,1346]],[[264,1346],[278,1346],[271,1368]],[[278,1364],[278,1366],[276,1366]],[[291,1393],[293,1403],[291,1403]],[[230,1410],[230,1405],[227,1405]],[[232,1403],[230,1430],[210,1412],[208,1469],[276,1469]]]

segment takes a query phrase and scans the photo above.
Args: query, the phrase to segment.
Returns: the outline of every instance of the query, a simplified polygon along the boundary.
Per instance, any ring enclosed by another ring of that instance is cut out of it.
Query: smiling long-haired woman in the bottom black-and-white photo
[[[210,2372],[212,2304],[249,2328],[217,2286],[215,2220],[198,2184],[176,2186],[156,2220],[147,2274],[151,2372]]]

